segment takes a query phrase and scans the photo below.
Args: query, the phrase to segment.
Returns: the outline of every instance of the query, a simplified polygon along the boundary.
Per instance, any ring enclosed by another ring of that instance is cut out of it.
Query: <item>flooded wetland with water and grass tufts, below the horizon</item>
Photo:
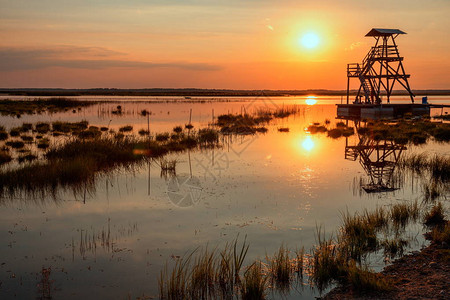
[[[448,111],[341,120],[332,96],[5,99],[2,298],[388,292],[375,271],[427,246],[427,231],[448,237]]]

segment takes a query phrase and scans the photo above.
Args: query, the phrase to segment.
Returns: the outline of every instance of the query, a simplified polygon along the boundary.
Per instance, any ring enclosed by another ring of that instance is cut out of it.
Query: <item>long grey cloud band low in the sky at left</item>
[[[101,47],[0,48],[0,71],[8,72],[51,67],[90,70],[107,68],[178,68],[195,71],[216,71],[221,69],[218,65],[207,63],[146,62],[115,58],[120,55],[124,55],[124,53]]]

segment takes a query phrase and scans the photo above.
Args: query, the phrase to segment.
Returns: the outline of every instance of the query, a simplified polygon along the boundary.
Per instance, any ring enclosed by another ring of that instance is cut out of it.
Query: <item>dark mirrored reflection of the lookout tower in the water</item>
[[[359,122],[355,128],[359,129]],[[392,177],[401,153],[406,150],[404,144],[391,140],[374,140],[358,134],[356,146],[345,146],[345,159],[355,161],[359,157],[361,166],[369,175],[370,183],[362,188],[367,193],[393,191]]]

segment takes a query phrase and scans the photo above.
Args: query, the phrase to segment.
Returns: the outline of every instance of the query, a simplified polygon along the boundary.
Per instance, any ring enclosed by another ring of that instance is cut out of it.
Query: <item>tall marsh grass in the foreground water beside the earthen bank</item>
[[[408,241],[398,229],[419,216],[417,202],[376,207],[362,214],[347,211],[342,214],[342,225],[336,237],[325,238],[324,231],[317,228],[316,246],[307,259],[304,248],[291,254],[282,244],[272,256],[266,255],[265,262],[250,264],[243,277],[241,270],[248,245],[244,240],[243,245],[237,247],[236,239],[222,251],[198,251],[198,256],[190,258],[193,264],[186,267],[177,262],[172,273],[167,273],[166,268],[160,279],[160,295],[162,298],[177,294],[189,295],[185,299],[232,299],[239,293],[242,299],[254,299],[265,297],[268,288],[285,294],[292,288],[295,274],[302,279],[305,270],[310,284],[319,291],[335,284],[358,293],[388,291],[393,283],[368,268],[367,254],[383,249],[385,257],[403,255]],[[440,232],[435,233],[436,239],[445,241],[448,228],[440,228]],[[381,233],[385,235],[383,240],[378,237]],[[395,234],[392,238],[387,235],[392,233]],[[176,281],[178,278],[183,278],[184,282]],[[180,292],[180,286],[186,290]],[[171,288],[174,291],[168,290]]]

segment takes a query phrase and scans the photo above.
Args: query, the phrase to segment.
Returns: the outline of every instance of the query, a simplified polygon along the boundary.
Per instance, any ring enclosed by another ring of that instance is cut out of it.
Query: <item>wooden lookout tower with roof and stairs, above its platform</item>
[[[403,68],[403,57],[398,53],[395,38],[405,32],[398,29],[373,28],[366,36],[375,38],[375,46],[367,53],[361,64],[347,65],[347,104],[349,101],[350,78],[360,82],[355,103],[380,104],[381,93],[385,93],[389,103],[395,82],[402,85],[414,103],[414,94],[409,87]]]

